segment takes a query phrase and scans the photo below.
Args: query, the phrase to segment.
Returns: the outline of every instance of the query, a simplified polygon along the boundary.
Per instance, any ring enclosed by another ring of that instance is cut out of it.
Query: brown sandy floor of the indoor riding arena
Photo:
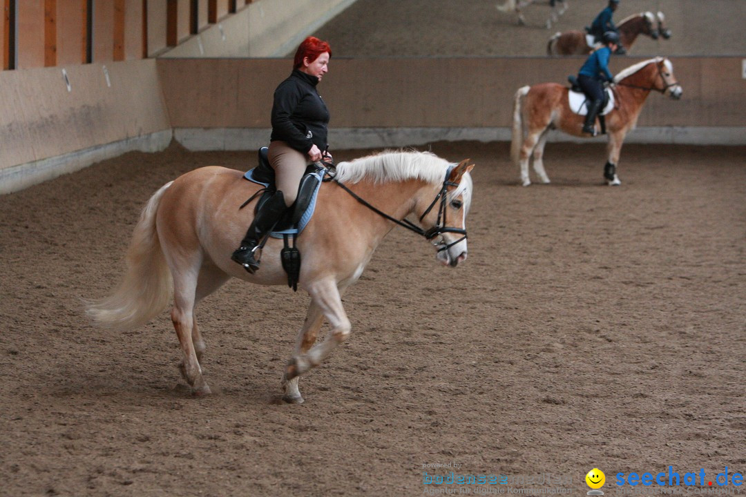
[[[451,470],[585,495],[593,467],[618,496],[618,472],[746,472],[746,148],[626,145],[618,188],[602,142],[549,144],[553,183],[529,188],[505,143],[431,148],[477,164],[468,260],[395,229],[304,405],[280,376],[306,294],[233,281],[198,308],[207,398],[167,310],[114,334],[81,305],[122,275],[158,187],[253,153],[128,153],[0,197],[0,496],[404,496]]]

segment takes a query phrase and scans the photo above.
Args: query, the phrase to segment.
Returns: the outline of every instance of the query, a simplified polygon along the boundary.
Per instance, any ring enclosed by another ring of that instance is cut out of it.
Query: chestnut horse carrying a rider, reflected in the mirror
[[[665,28],[665,17],[662,12],[654,15],[652,12],[642,12],[628,16],[619,23],[619,41],[627,52],[630,51],[633,43],[641,34],[658,39],[659,36],[668,39],[671,37],[671,31]],[[586,55],[590,54],[595,45],[589,44],[584,31],[565,31],[556,33],[549,39],[547,44],[547,54],[549,55]]]

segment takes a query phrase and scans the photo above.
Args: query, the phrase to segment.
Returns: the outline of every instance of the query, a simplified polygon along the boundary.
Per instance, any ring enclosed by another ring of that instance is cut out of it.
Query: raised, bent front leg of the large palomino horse
[[[336,282],[332,279],[323,279],[313,282],[307,287],[311,300],[319,306],[331,329],[321,344],[311,347],[308,352],[294,355],[285,368],[285,379],[287,381],[301,376],[312,367],[322,364],[331,351],[350,335],[350,320],[342,307],[342,297],[339,294]]]

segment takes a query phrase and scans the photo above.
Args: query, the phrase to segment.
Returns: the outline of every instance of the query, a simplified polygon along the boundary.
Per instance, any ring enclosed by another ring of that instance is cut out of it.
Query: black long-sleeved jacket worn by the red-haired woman
[[[293,69],[290,76],[275,89],[272,105],[272,137],[286,142],[302,153],[315,144],[327,149],[329,110],[316,91],[319,78]]]

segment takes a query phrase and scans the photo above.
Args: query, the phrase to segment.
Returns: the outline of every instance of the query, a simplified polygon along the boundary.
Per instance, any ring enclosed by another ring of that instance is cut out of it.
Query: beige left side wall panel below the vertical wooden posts
[[[169,130],[155,63],[0,72],[0,168]]]

